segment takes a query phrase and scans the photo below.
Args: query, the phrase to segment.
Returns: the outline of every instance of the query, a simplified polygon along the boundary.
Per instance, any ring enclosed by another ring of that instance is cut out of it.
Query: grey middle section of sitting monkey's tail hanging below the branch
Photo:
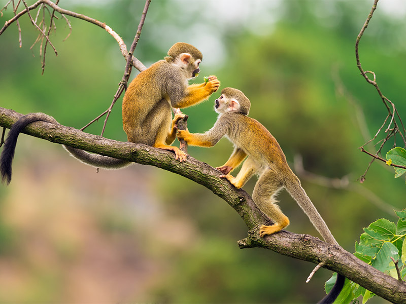
[[[71,146],[63,145],[66,151],[69,152],[71,156],[79,160],[80,162],[97,168],[104,169],[120,169],[131,165],[131,162],[115,159],[108,156],[91,154],[87,151],[77,149]]]

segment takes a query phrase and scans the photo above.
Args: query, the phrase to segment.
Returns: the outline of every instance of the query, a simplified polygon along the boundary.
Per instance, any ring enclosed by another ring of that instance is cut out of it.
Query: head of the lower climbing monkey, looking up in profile
[[[238,112],[248,115],[251,102],[243,92],[233,88],[224,88],[215,101],[215,111],[219,114]]]

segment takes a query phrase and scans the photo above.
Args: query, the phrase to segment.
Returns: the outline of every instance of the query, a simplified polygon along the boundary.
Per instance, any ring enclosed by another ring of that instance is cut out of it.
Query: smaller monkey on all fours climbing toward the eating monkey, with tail
[[[226,136],[234,144],[234,151],[228,161],[216,169],[224,174],[220,177],[229,180],[236,188],[241,188],[253,174],[259,175],[252,198],[259,209],[275,222],[273,225],[260,227],[261,237],[277,233],[289,224],[288,217],[282,213],[275,200],[275,196],[284,187],[307,214],[324,240],[327,243],[338,245],[323,218],[301,187],[300,180],[289,168],[278,141],[258,121],[247,116],[250,106],[250,100],[243,92],[225,88],[215,101],[215,111],[219,113],[219,117],[213,128],[203,134],[178,130],[178,138],[184,139],[190,145],[211,147]],[[240,172],[233,177],[230,172],[246,157]],[[336,281],[336,284],[339,283],[339,285],[334,285],[336,287],[333,288],[334,291],[332,290],[320,303],[332,303],[338,296],[345,279],[340,276]],[[332,292],[334,294],[331,294]],[[328,296],[330,297],[327,298]]]

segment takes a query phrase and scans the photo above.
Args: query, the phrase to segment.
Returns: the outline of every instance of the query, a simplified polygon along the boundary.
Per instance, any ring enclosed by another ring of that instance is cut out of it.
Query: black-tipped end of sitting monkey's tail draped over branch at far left
[[[17,145],[17,138],[21,131],[30,123],[36,121],[45,121],[48,123],[58,123],[53,117],[44,113],[30,113],[24,115],[11,127],[9,134],[7,135],[6,142],[3,147],[2,155],[0,156],[0,175],[2,182],[9,184],[11,182],[12,164],[14,158],[14,152]]]

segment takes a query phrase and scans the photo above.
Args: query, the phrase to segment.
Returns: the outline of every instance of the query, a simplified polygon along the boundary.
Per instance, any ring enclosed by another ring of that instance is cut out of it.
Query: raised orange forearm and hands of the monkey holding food
[[[184,108],[194,105],[200,101],[206,100],[211,94],[216,92],[220,87],[220,82],[216,77],[206,84],[190,85],[185,90],[185,95],[180,98],[171,98],[171,104],[175,108]]]

